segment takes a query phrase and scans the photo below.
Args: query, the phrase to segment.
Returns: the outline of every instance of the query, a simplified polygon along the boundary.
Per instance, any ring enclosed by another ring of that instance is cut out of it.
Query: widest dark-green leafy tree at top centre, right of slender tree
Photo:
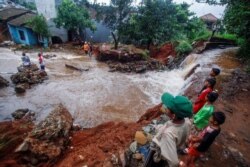
[[[123,36],[146,43],[148,49],[151,43],[193,36],[202,23],[191,17],[188,8],[188,4],[172,0],[145,0],[124,26]]]

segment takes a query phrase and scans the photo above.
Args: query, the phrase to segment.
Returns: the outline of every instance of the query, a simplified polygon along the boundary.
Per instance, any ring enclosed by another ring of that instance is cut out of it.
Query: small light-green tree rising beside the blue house
[[[32,19],[27,21],[27,25],[37,34],[40,34],[44,37],[50,37],[50,32],[48,24],[43,15],[37,15]]]

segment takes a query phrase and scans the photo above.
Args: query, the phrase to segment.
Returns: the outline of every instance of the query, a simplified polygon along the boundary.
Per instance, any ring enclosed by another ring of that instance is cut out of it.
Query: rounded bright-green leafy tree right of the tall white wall
[[[78,32],[81,34],[82,29],[90,28],[95,30],[88,11],[84,7],[78,7],[71,0],[63,0],[58,7],[57,18],[54,19],[57,27],[63,27],[70,33]],[[77,33],[79,35],[79,33]]]

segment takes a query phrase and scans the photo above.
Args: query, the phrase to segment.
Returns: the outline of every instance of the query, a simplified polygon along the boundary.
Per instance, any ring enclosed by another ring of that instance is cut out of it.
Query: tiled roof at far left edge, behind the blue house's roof
[[[28,12],[29,10],[20,8],[4,8],[0,11],[0,20],[8,20],[12,17],[16,17]]]

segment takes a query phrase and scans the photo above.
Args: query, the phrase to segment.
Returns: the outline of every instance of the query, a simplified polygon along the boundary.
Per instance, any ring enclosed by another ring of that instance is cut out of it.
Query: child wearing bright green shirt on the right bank
[[[210,92],[206,96],[206,104],[199,110],[199,112],[194,116],[194,126],[198,130],[202,130],[205,128],[209,123],[209,118],[214,112],[214,105],[213,103],[218,98],[217,92]]]

